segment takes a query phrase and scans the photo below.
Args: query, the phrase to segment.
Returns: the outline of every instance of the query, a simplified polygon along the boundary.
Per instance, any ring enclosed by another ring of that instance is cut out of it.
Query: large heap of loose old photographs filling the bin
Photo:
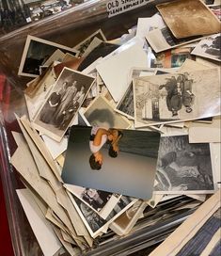
[[[220,16],[199,0],[157,8],[118,39],[100,29],[69,48],[27,37],[19,75],[33,79],[11,163],[44,255],[83,255],[204,203],[205,223],[220,219]],[[153,255],[187,255],[177,233],[176,250]]]

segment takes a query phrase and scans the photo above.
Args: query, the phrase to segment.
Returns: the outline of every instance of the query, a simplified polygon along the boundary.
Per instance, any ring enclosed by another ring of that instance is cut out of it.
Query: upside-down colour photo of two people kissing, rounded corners
[[[159,142],[156,132],[72,126],[62,179],[65,184],[150,199]]]

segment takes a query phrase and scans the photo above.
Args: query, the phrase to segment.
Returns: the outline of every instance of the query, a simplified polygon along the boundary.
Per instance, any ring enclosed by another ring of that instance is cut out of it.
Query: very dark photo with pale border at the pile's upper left
[[[69,53],[73,56],[77,56],[79,53],[73,48],[28,35],[18,74],[37,77],[39,75],[39,66],[44,66],[44,63],[55,53],[56,50],[60,50],[64,54]],[[47,65],[51,64],[52,63],[47,63]]]

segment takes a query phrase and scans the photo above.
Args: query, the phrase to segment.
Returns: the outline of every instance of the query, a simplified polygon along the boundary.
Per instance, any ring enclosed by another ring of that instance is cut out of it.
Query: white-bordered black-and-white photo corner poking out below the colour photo
[[[93,238],[97,237],[100,232],[105,232],[109,224],[124,213],[128,208],[130,208],[136,201],[133,198],[122,196],[109,216],[106,219],[103,219],[95,211],[89,208],[82,200],[79,200],[73,195],[71,200],[83,222],[85,223],[88,232]]]

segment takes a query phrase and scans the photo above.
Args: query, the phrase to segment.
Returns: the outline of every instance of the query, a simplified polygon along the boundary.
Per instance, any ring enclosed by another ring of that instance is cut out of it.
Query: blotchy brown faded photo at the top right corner
[[[177,39],[210,35],[220,31],[218,18],[200,0],[168,2],[158,5],[157,8]]]

